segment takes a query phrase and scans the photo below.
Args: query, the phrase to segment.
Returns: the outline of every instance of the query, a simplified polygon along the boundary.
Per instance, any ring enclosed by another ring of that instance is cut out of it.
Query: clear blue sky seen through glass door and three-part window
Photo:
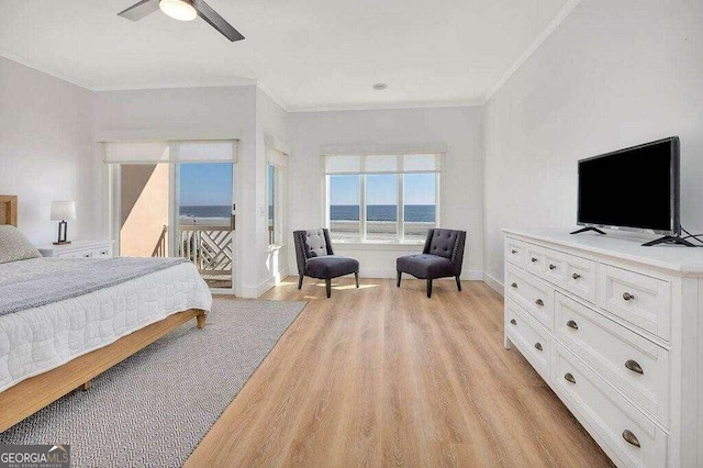
[[[394,174],[366,176],[367,204],[397,204]],[[435,175],[406,174],[405,204],[435,204]],[[359,204],[359,176],[331,176],[332,204]],[[232,165],[180,165],[180,203],[182,205],[228,205],[232,203]]]

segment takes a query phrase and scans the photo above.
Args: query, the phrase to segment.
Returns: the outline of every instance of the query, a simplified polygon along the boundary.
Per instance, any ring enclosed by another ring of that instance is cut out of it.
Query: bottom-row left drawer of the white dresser
[[[505,334],[543,379],[549,380],[551,336],[511,300],[505,301]]]

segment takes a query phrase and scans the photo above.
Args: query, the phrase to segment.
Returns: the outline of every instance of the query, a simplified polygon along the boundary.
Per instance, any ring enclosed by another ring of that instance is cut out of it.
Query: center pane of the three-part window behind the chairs
[[[398,175],[366,176],[366,238],[398,242]]]

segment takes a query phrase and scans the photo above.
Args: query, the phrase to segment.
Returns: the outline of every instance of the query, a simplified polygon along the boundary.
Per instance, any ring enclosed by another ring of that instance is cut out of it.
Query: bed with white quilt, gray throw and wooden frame
[[[16,224],[18,198],[0,196],[0,229]],[[208,286],[192,264],[165,261],[0,263],[0,432],[72,390],[88,390],[94,377],[183,323],[205,325]],[[131,264],[141,269],[126,274]]]

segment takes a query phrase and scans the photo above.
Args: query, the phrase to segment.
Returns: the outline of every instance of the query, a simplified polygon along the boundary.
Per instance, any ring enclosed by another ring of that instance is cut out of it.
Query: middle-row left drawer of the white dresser
[[[505,296],[537,319],[554,327],[554,287],[512,265],[505,267]]]

